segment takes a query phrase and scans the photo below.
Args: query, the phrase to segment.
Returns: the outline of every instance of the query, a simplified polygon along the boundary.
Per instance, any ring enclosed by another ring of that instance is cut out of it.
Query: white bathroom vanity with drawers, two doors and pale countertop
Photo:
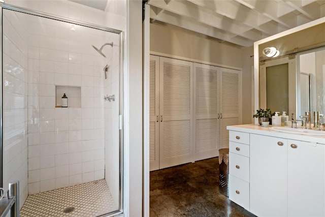
[[[239,153],[230,139],[230,200],[257,216],[325,216],[324,137],[279,133],[254,125],[227,129],[230,138],[234,132],[249,135],[248,181],[243,176],[232,178],[231,167],[237,164],[232,154]],[[237,188],[249,189],[247,201],[231,197]]]

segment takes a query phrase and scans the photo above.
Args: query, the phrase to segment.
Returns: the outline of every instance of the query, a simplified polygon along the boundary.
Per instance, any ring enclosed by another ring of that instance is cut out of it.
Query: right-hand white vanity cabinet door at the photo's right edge
[[[288,140],[288,216],[325,216],[325,145]]]

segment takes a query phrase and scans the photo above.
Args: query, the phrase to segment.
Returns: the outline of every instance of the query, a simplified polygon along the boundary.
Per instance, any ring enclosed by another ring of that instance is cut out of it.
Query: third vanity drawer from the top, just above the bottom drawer
[[[249,158],[230,152],[229,174],[249,182]]]

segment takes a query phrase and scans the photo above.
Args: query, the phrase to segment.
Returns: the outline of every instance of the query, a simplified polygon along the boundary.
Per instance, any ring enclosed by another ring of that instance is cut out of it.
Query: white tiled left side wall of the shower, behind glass
[[[27,185],[27,40],[15,13],[3,20],[3,187],[19,180],[20,207]]]

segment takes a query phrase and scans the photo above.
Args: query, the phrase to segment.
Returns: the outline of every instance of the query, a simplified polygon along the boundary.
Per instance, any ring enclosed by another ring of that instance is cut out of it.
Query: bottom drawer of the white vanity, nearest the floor
[[[249,211],[249,182],[230,175],[229,199]]]

